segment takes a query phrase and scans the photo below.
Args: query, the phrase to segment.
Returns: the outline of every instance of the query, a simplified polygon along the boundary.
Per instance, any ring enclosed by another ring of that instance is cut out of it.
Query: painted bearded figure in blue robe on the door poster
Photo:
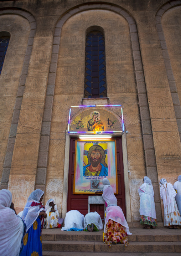
[[[88,165],[83,167],[83,176],[108,176],[105,152],[100,145],[93,145],[88,151]]]

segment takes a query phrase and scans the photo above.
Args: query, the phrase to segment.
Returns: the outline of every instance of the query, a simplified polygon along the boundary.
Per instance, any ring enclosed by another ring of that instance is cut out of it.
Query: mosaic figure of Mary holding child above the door
[[[100,121],[100,113],[99,111],[93,111],[90,114],[91,119],[87,123],[88,132],[93,131],[102,131],[104,130],[104,126],[102,121]]]

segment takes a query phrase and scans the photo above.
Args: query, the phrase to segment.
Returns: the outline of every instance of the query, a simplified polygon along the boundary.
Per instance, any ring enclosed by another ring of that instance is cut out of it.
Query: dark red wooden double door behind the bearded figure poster
[[[68,198],[67,212],[70,210],[78,210],[84,216],[88,213],[88,195],[73,194],[73,178],[74,178],[74,156],[75,156],[76,138],[70,140],[69,154],[69,173],[68,173]],[[123,210],[126,217],[125,205],[125,189],[124,189],[124,169],[123,169],[123,152],[122,138],[116,138],[117,145],[117,175],[118,175],[118,194],[115,195],[118,205]],[[104,205],[90,205],[90,212],[97,211],[102,219],[104,219]]]

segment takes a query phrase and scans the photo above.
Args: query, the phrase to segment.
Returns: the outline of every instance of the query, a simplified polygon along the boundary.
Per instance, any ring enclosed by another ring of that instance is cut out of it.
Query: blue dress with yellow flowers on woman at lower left
[[[20,256],[42,256],[40,217],[37,217],[33,225],[26,232],[23,239],[24,247]]]

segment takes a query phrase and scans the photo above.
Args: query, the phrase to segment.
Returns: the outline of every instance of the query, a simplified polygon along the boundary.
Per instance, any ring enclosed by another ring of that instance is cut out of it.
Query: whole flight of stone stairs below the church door
[[[43,256],[180,256],[181,230],[167,228],[131,228],[128,235],[129,245],[103,243],[103,231],[61,231],[44,229],[42,232]]]

